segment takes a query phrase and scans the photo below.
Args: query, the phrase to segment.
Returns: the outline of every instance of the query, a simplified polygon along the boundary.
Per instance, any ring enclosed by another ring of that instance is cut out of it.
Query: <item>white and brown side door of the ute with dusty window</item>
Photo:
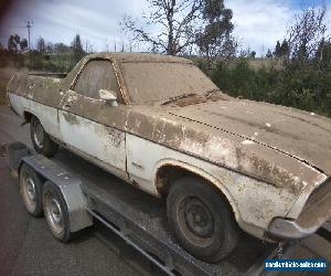
[[[100,99],[100,89],[117,93],[118,106]],[[92,60],[83,65],[61,103],[62,138],[72,151],[127,179],[124,131],[127,112],[111,61]]]

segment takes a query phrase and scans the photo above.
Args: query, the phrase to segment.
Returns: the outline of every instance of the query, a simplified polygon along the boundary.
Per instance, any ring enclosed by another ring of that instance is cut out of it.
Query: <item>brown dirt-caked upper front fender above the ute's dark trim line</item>
[[[298,195],[320,173],[296,158],[239,136],[167,115],[175,107],[142,109],[134,106],[127,130],[148,140],[285,188]],[[256,131],[253,131],[256,136]]]

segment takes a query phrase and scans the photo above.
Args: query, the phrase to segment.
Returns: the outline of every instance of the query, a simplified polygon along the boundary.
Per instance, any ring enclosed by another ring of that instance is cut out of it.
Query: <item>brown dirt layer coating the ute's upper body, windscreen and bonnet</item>
[[[117,108],[107,108],[97,98],[87,103],[86,97],[73,92],[77,76],[95,60],[114,64],[114,79],[122,98]],[[82,117],[285,187],[295,194],[307,184],[313,187],[321,180],[321,172],[331,176],[330,119],[214,93],[217,87],[184,59],[94,54],[84,57],[64,78],[18,74],[9,88],[61,109],[70,104],[71,112]],[[67,91],[70,96],[65,98]],[[154,100],[158,97],[160,100]],[[162,105],[164,99],[175,97],[178,100]],[[70,116],[66,119],[77,124]]]

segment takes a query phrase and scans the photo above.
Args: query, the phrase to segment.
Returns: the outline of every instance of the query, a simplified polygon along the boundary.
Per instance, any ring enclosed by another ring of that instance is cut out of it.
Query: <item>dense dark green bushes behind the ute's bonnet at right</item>
[[[331,72],[288,64],[253,68],[249,60],[217,61],[212,68],[196,64],[231,96],[296,107],[331,117]]]

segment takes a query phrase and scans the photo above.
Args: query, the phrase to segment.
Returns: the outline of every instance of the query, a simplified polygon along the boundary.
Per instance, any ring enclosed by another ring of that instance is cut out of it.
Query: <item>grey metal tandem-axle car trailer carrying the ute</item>
[[[243,234],[228,257],[217,264],[207,264],[177,244],[167,226],[164,201],[141,192],[71,152],[49,159],[34,153],[22,142],[2,146],[2,151],[9,157],[13,178],[20,182],[22,168],[28,167],[42,183],[43,211],[49,226],[53,235],[63,242],[97,220],[169,275],[263,275],[266,258],[289,258],[298,244],[264,244]],[[29,181],[29,189],[38,190],[36,184],[31,179]],[[55,197],[49,198],[50,191]],[[58,236],[54,227],[61,210],[65,234]],[[328,227],[322,230],[322,234],[330,242]]]

